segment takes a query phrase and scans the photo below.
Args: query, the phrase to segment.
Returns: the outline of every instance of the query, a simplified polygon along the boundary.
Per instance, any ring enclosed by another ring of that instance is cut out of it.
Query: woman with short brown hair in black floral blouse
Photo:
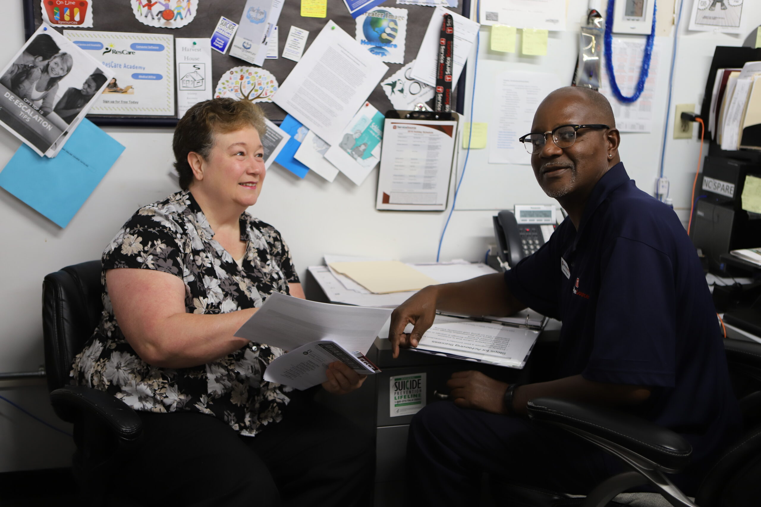
[[[266,175],[263,112],[207,100],[174,132],[181,192],[140,208],[103,252],[103,318],[74,382],[142,418],[125,473],[142,502],[354,505],[371,486],[372,444],[304,392],[266,382],[283,350],[234,336],[267,296],[304,297],[280,233],[247,213]],[[364,381],[343,363],[326,391]],[[209,417],[211,416],[211,417]]]

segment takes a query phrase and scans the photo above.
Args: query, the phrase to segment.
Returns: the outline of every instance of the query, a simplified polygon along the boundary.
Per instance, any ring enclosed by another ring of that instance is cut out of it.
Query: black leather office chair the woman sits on
[[[72,472],[85,505],[135,505],[109,491],[109,465],[139,445],[142,421],[132,408],[103,391],[69,385],[74,356],[100,322],[100,261],[51,273],[43,281],[43,338],[50,402],[74,424]],[[111,477],[113,478],[113,477]]]

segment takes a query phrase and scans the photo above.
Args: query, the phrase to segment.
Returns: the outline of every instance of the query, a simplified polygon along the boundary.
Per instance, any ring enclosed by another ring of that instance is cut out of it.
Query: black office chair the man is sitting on
[[[750,507],[761,505],[761,344],[724,340],[724,350],[740,400],[745,431],[719,458],[689,499],[665,473],[689,464],[692,448],[677,433],[618,410],[554,398],[529,402],[536,423],[553,424],[603,448],[631,471],[610,477],[586,497],[495,480],[495,498],[525,507]],[[622,493],[650,485],[659,493]]]

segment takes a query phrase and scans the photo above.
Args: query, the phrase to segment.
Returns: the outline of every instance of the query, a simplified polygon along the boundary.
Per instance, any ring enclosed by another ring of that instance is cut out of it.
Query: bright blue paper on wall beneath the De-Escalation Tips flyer
[[[0,186],[66,227],[124,147],[83,119],[56,158],[21,144],[0,173]]]

